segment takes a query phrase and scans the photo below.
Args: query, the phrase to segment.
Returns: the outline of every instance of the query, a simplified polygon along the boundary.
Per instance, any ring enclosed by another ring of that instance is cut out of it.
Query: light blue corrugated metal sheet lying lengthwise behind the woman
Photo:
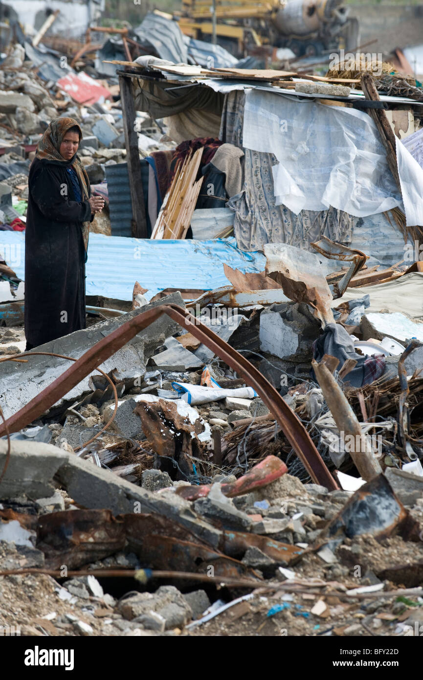
[[[24,279],[24,233],[3,231],[0,252]],[[90,234],[86,294],[132,300],[135,281],[148,288],[150,299],[165,288],[214,290],[228,285],[223,265],[243,272],[265,269],[260,252],[242,252],[235,239],[156,241]]]

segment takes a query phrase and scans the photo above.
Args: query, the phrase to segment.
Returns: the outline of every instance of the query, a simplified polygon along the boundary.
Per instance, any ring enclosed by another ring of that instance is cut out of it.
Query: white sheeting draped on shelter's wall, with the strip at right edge
[[[275,154],[279,161],[273,167],[276,203],[294,214],[332,205],[355,217],[367,217],[401,206],[376,126],[368,114],[356,109],[300,103],[273,92],[250,90],[243,146]],[[404,148],[399,170],[406,211],[411,202],[414,205],[407,224],[422,224],[423,201],[416,203],[410,186],[415,177],[412,161]]]

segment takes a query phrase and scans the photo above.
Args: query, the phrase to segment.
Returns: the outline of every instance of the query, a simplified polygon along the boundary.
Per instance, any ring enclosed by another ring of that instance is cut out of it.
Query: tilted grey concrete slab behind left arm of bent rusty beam
[[[106,321],[94,324],[84,330],[77,330],[75,333],[65,335],[45,345],[34,347],[33,352],[54,352],[73,358],[79,358],[87,352],[92,345],[112,333],[126,321],[137,316],[140,311],[147,311],[163,304],[173,303],[185,306],[180,292],[172,293],[142,309],[135,309],[122,316],[114,317]],[[117,369],[122,379],[133,379],[142,377],[146,373],[146,361],[154,350],[163,345],[165,338],[175,333],[180,326],[172,321],[169,316],[163,314],[150,326],[141,330],[129,343],[126,343],[121,350],[109,357],[100,368],[109,373]],[[19,411],[24,404],[27,404],[39,392],[50,385],[59,375],[69,367],[69,361],[51,356],[28,356],[27,363],[17,364],[14,362],[4,362],[0,364],[0,379],[2,384],[2,394],[0,395],[0,406],[3,409],[5,418]],[[68,392],[55,406],[63,405],[69,401],[75,402],[82,394],[91,391],[89,379],[95,375],[92,371],[70,392]]]

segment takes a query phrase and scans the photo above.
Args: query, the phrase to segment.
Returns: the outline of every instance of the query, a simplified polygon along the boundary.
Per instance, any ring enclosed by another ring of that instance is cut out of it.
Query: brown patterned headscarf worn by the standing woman
[[[82,131],[78,122],[74,118],[54,118],[50,125],[46,129],[46,132],[41,137],[37,145],[37,151],[35,156],[39,160],[47,160],[50,163],[60,163],[61,165],[71,166],[75,170],[78,180],[80,181],[80,187],[82,192],[82,201],[88,201],[89,198],[89,188],[90,181],[88,180],[88,175],[80,161],[77,154],[73,156],[70,160],[66,160],[60,154],[61,143],[63,137],[69,129],[72,127],[77,127],[80,135],[80,141],[82,139]],[[82,222],[82,238],[84,239],[84,248],[88,248],[88,235],[90,232],[90,223]]]

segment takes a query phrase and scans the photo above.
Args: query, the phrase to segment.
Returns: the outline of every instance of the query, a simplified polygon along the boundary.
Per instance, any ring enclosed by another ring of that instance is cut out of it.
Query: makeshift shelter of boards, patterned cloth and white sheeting
[[[361,90],[345,87],[359,86],[351,77],[305,80],[286,71],[203,69],[151,56],[121,65],[122,101],[131,100],[134,107],[124,116],[139,110],[165,118],[175,144],[207,136],[231,145],[224,174],[230,180],[242,173],[241,190],[228,190],[225,179],[229,200],[221,205],[233,212],[241,250],[280,242],[308,248],[326,236],[365,250],[372,264],[390,266],[403,258],[407,237],[419,237],[421,101],[383,94],[371,101]],[[368,114],[381,109],[388,109],[398,135],[401,190]],[[129,169],[136,183],[130,160]],[[148,205],[135,188],[134,193]]]

